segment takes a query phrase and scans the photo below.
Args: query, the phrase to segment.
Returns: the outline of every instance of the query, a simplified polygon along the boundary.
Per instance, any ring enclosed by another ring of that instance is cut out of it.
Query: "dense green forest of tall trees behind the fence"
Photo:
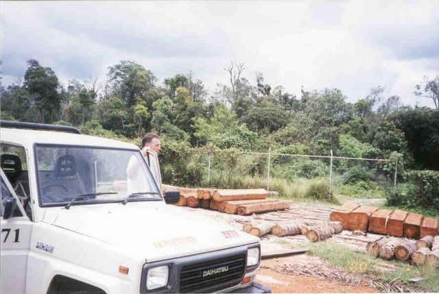
[[[263,73],[252,79],[246,74],[244,64],[231,62],[224,68],[228,84],[209,93],[191,73],[159,83],[141,64],[121,61],[108,67],[103,85],[93,78],[62,85],[50,67],[29,60],[23,77],[1,87],[1,119],[74,125],[85,134],[137,145],[145,132],[156,132],[163,140],[163,179],[174,184],[206,184],[206,162],[199,164],[193,154],[207,151],[222,158],[214,164],[217,171],[236,170],[216,173],[210,183],[216,186],[257,186],[258,178],[261,185],[266,159],[239,160],[239,151],[329,156],[332,150],[335,156],[397,159],[398,189],[383,190],[388,203],[439,209],[439,75],[414,84],[416,95],[434,101],[431,109],[405,106],[395,95],[383,97],[381,86],[350,103],[336,88],[302,88],[296,97],[283,86],[266,84]],[[282,158],[273,160],[279,164],[274,179],[294,182],[328,173],[329,162],[305,158],[282,166]],[[366,184],[365,190],[376,188],[370,182],[377,174],[391,181],[396,167],[335,165],[342,184]],[[288,187],[284,190],[287,195]]]

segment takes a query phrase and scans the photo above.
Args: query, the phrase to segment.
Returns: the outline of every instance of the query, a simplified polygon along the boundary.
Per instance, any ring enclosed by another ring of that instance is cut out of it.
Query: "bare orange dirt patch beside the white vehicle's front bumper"
[[[300,257],[296,257],[300,258]],[[265,266],[282,265],[294,257],[262,260],[257,274],[257,282],[270,287],[272,293],[377,293],[368,286],[349,285],[342,282],[321,280],[306,275],[294,275],[268,269]]]

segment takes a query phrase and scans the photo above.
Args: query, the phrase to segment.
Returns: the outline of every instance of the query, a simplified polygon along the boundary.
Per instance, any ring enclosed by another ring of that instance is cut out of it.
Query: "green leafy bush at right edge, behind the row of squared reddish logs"
[[[439,209],[439,171],[410,171],[407,182],[388,195],[388,204]]]

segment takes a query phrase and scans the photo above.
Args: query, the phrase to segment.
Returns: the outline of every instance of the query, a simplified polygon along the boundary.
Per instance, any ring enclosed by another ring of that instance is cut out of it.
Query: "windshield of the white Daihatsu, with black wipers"
[[[35,151],[41,206],[126,202],[130,195],[162,200],[139,150],[36,145]]]

